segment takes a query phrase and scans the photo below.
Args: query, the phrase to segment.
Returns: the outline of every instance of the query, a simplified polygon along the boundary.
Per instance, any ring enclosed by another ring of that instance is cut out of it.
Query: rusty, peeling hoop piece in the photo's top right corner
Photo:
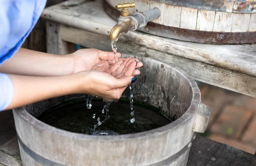
[[[235,2],[233,13],[256,13],[256,2]]]

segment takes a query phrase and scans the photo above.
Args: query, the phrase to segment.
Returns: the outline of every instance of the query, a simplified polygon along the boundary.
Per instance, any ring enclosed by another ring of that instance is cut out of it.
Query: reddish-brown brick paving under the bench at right
[[[256,98],[201,83],[201,100],[212,108],[209,139],[255,154]]]

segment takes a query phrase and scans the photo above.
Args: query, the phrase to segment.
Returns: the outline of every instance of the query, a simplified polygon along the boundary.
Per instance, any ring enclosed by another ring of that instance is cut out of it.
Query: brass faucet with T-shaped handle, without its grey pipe
[[[118,19],[118,23],[112,28],[109,39],[111,41],[118,40],[119,34],[126,34],[130,29],[135,28],[135,21],[129,17],[129,11],[127,8],[135,7],[135,3],[122,3],[116,4],[116,9],[122,9],[121,15]]]

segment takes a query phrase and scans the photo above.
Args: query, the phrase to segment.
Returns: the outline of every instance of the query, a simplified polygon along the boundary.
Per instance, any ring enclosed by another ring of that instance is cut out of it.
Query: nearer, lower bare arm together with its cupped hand
[[[130,74],[135,69],[131,65]],[[128,71],[129,72],[129,71]],[[119,79],[108,73],[84,71],[56,77],[35,77],[8,74],[14,86],[14,97],[6,108],[13,109],[29,103],[67,94],[92,94],[105,99],[119,99],[131,83],[132,76]]]

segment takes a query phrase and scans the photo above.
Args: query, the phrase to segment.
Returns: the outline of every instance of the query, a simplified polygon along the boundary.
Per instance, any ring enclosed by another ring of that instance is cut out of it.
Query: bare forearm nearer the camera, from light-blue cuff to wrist
[[[58,77],[34,77],[8,74],[14,86],[14,97],[6,109],[29,103],[79,93],[79,76],[72,74]]]

